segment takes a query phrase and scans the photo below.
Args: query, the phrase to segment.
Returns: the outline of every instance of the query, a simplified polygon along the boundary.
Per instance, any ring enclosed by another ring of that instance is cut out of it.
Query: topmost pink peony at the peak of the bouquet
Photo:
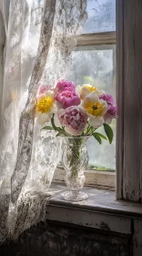
[[[75,83],[68,80],[60,80],[56,84],[55,91],[75,91]]]

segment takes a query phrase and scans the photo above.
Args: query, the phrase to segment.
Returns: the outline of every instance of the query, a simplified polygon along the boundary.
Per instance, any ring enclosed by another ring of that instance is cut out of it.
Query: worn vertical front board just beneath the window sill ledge
[[[131,233],[131,219],[111,216],[100,212],[83,211],[76,208],[65,208],[48,205],[46,218],[83,227],[118,232]]]

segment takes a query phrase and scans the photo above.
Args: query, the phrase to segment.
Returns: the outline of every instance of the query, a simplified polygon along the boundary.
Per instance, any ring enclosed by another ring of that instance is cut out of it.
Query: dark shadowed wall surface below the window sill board
[[[1,246],[0,255],[130,256],[129,247],[128,235],[45,221],[26,230],[15,243]]]

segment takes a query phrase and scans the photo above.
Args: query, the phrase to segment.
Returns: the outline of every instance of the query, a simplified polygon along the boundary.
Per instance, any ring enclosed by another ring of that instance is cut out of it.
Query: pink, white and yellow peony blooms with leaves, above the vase
[[[101,144],[102,139],[113,141],[110,123],[117,118],[114,98],[90,84],[75,85],[61,80],[51,90],[41,85],[37,92],[37,123],[46,130],[55,130],[56,136],[93,136]],[[46,123],[49,125],[44,126]],[[106,136],[96,129],[104,126]]]

